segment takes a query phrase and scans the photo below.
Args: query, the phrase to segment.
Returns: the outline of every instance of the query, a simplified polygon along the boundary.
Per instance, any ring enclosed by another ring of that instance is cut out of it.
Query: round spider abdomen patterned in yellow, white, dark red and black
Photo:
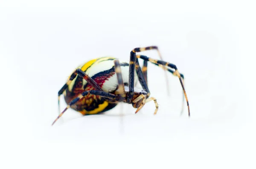
[[[114,57],[97,58],[84,63],[77,69],[81,69],[81,71],[91,77],[104,92],[117,95],[119,88],[113,62],[115,59],[116,58]],[[120,68],[125,89],[126,92],[128,92],[127,84],[129,83],[129,62],[120,61]],[[137,74],[134,74],[135,85],[137,81]],[[64,91],[64,99],[66,103],[69,104],[73,99],[78,97],[79,94],[90,90],[96,89],[93,85],[87,83],[83,77],[76,76]],[[115,107],[117,103],[118,102],[113,99],[101,97],[99,95],[88,94],[87,96],[80,99],[75,105],[71,106],[71,109],[80,112],[82,115],[93,115],[106,112]]]

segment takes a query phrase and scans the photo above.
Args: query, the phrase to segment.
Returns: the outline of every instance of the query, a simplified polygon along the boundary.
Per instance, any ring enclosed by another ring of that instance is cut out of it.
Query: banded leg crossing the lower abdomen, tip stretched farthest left
[[[73,99],[73,100],[67,105],[67,107],[61,112],[61,114],[58,115],[58,117],[53,121],[52,125],[64,114],[64,112],[67,111],[67,109],[69,109],[71,106],[73,106],[74,104],[76,104],[76,102],[78,102],[80,99],[82,99],[83,97],[87,96],[88,94],[97,95],[97,96],[101,96],[101,97],[105,97],[105,98],[109,98],[109,99],[116,99],[116,95],[113,95],[113,94],[108,93],[108,92],[99,91],[99,90],[84,91],[82,94],[80,94],[78,97],[76,97],[75,99]]]

